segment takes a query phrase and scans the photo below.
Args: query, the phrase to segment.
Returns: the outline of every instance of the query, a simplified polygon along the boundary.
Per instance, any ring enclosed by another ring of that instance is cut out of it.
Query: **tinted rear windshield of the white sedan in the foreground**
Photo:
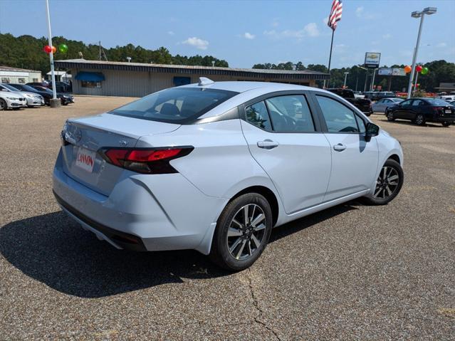
[[[110,114],[185,124],[238,93],[206,88],[170,88],[123,105]]]

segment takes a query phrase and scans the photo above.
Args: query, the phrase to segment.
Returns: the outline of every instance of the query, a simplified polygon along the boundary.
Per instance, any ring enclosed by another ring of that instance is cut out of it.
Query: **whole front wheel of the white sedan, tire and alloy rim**
[[[365,202],[372,205],[385,205],[398,195],[402,189],[404,173],[401,165],[394,159],[388,159],[376,179],[375,192],[365,197]]]

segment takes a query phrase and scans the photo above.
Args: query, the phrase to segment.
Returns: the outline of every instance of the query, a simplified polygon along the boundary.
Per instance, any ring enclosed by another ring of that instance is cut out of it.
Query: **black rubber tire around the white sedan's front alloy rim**
[[[385,167],[386,167],[386,169],[385,169]],[[389,168],[394,169],[393,174],[398,175],[397,184],[396,184],[396,186],[394,186],[392,188],[392,182],[389,182],[389,184],[386,185],[387,187],[382,188],[382,191],[381,191],[382,184],[384,184],[384,182],[382,182],[382,179],[381,179],[382,173],[383,173],[384,169],[387,172],[387,169],[389,169]],[[403,169],[402,169],[401,165],[398,162],[396,162],[394,159],[387,159],[387,161],[381,168],[379,177],[377,178],[375,192],[372,194],[372,196],[364,196],[362,199],[365,202],[365,204],[370,204],[370,205],[389,204],[389,202],[392,201],[395,198],[395,196],[398,195],[399,191],[402,189],[403,182],[404,182],[404,173],[403,173]],[[389,188],[389,189],[387,190],[387,188]],[[378,191],[380,191],[380,192],[378,192]],[[392,191],[392,193],[388,194],[389,191]],[[375,196],[376,194],[378,194],[378,195]],[[381,197],[381,194],[387,194],[387,196],[385,195],[385,197]]]

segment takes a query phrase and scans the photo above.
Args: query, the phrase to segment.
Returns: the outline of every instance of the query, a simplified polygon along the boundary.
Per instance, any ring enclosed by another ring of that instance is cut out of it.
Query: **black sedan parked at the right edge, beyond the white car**
[[[399,118],[411,120],[416,125],[439,122],[444,127],[448,127],[455,121],[455,107],[437,98],[411,98],[388,107],[385,115],[389,121]]]

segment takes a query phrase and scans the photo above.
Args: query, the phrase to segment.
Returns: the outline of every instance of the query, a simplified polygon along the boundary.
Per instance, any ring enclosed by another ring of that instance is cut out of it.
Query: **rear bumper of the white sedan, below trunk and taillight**
[[[206,196],[181,174],[132,174],[105,196],[68,177],[61,162],[59,153],[53,172],[58,204],[98,238],[135,251],[209,253],[227,199]]]

